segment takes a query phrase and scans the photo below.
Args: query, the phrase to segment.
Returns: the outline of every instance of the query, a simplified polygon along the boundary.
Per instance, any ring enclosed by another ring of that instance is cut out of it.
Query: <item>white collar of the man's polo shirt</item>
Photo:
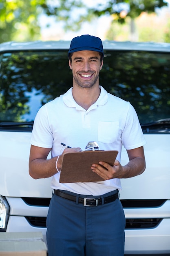
[[[97,106],[102,106],[102,105],[106,104],[106,102],[108,101],[108,94],[107,94],[106,90],[101,85],[99,85],[99,87],[101,89],[101,92],[100,92],[100,95],[99,95],[99,98],[97,99],[97,101],[92,105],[93,109],[97,108]],[[66,104],[66,106],[68,106],[70,108],[76,108],[76,109],[82,110],[83,108],[81,106],[79,106],[73,98],[72,88],[70,88],[63,95],[63,101]],[[91,109],[92,106],[89,109]]]

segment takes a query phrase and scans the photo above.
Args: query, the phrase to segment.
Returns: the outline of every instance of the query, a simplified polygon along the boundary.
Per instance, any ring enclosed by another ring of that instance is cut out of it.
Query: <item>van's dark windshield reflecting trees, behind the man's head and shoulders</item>
[[[130,101],[141,124],[170,118],[170,54],[104,52],[99,82]],[[0,122],[33,121],[39,108],[72,87],[67,51],[0,54]]]

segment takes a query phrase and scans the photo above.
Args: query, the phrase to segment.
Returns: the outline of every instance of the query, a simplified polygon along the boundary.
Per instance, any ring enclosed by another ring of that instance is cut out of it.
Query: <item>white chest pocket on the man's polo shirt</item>
[[[119,121],[98,123],[98,141],[103,143],[113,143],[117,140],[119,133]]]

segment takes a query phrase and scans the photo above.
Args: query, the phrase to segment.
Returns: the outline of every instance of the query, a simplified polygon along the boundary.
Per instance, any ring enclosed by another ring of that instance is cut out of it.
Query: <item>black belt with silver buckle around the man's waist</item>
[[[75,195],[63,193],[60,190],[54,190],[54,193],[55,193],[55,195],[58,195],[62,198],[76,202],[77,197]],[[102,202],[103,202],[103,204],[108,204],[110,202],[115,201],[117,198],[119,198],[118,191],[114,195],[109,195],[109,196],[105,197],[103,200],[102,200],[101,196],[99,196],[99,198],[90,198],[90,195],[89,195],[89,198],[79,197],[78,202],[83,204],[84,206],[97,206],[97,205],[101,205]]]

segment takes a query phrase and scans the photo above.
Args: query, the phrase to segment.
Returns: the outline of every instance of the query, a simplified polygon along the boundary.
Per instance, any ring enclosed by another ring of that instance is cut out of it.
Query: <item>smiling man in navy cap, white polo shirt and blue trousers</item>
[[[49,256],[124,255],[120,179],[144,172],[146,142],[130,103],[99,86],[103,56],[100,38],[73,38],[68,51],[73,88],[44,105],[35,118],[29,173],[34,179],[53,177],[47,216]],[[85,149],[89,141],[97,141],[101,149],[119,151],[113,166],[105,162],[91,166],[104,181],[60,183],[63,155]],[[61,153],[61,142],[72,148]],[[125,166],[120,164],[122,145],[129,157]],[[84,205],[84,198],[91,199]]]

